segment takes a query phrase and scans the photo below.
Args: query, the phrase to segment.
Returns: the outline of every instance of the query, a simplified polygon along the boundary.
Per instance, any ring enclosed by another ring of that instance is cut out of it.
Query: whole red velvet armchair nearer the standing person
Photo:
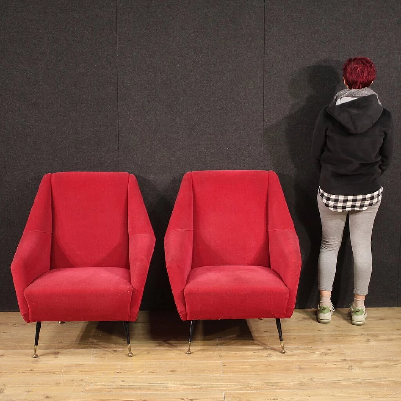
[[[281,318],[295,308],[301,255],[273,171],[196,171],[182,179],[164,239],[182,320]]]

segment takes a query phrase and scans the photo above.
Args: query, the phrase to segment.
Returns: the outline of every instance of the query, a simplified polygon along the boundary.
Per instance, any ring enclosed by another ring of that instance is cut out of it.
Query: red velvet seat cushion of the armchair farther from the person
[[[52,269],[24,291],[30,321],[130,320],[130,270],[122,267]]]

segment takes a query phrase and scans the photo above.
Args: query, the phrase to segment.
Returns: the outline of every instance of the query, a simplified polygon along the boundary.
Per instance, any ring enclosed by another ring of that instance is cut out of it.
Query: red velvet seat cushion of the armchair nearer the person
[[[265,266],[202,266],[184,288],[187,320],[284,318],[289,290]]]

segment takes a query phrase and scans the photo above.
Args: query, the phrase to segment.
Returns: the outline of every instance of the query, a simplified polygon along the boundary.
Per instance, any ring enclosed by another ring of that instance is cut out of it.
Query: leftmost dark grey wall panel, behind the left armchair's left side
[[[41,177],[118,170],[115,2],[0,4],[0,310]]]

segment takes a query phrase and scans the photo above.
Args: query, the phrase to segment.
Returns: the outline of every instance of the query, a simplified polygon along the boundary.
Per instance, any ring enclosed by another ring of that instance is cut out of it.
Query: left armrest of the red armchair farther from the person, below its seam
[[[26,322],[30,322],[30,318],[24,291],[37,277],[50,270],[51,239],[50,232],[24,232],[11,262],[18,306]]]

